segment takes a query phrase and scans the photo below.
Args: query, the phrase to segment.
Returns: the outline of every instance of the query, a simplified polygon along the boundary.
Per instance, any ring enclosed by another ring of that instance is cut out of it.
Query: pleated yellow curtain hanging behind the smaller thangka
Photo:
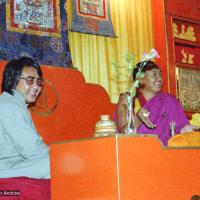
[[[153,47],[151,0],[110,0],[110,10],[116,38],[69,32],[69,42],[74,67],[87,82],[102,85],[116,103],[128,90],[126,54],[132,53],[137,63]],[[68,13],[70,27],[72,0]]]

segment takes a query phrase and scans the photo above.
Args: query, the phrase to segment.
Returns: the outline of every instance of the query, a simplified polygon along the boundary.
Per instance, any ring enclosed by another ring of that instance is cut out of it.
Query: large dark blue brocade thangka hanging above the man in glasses
[[[0,1],[0,60],[29,56],[38,63],[71,66],[67,0]]]

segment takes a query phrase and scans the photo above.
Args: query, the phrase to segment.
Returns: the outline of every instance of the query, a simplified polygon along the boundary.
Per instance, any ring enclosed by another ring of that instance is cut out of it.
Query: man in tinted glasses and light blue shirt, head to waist
[[[5,66],[0,96],[0,178],[50,178],[49,150],[28,111],[42,84],[41,68],[31,58],[11,60]]]

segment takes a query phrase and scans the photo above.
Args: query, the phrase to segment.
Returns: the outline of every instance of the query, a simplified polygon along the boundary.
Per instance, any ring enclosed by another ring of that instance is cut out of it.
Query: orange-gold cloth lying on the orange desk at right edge
[[[168,141],[169,147],[200,147],[200,132],[177,134]]]

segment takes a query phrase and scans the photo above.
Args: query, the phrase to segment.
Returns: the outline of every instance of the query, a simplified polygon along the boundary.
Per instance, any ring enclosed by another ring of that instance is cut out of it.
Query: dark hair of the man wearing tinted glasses
[[[1,92],[8,92],[13,95],[13,89],[16,88],[19,78],[24,67],[33,67],[37,70],[39,77],[42,77],[42,70],[32,58],[20,57],[19,59],[10,60],[3,71],[1,83]]]

